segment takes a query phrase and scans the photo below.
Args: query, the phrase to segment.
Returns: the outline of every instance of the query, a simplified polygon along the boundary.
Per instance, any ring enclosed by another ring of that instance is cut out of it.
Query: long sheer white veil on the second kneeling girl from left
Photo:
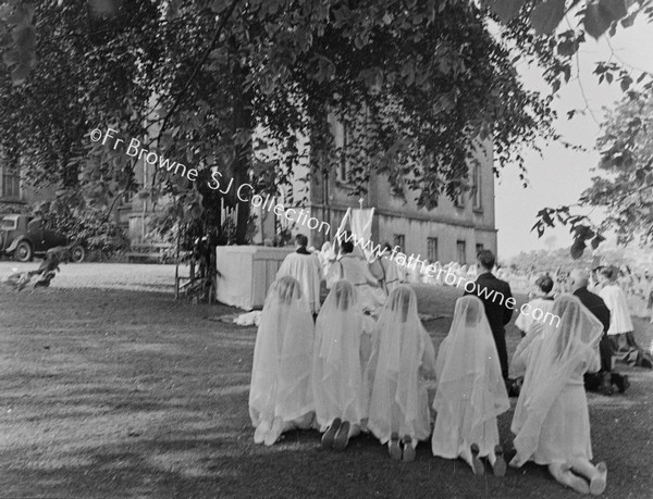
[[[323,420],[320,424],[330,424],[334,417],[354,422],[364,417],[361,334],[362,311],[356,290],[349,282],[338,280],[316,324],[312,383],[318,419]]]

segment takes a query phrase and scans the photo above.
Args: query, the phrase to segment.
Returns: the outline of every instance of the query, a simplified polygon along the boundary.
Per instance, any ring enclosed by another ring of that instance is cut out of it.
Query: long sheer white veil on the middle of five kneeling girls
[[[418,370],[427,334],[417,313],[415,291],[405,285],[392,290],[374,329],[368,379],[373,378],[368,426],[387,440],[392,432],[416,435],[419,419]],[[396,403],[403,421],[391,421]]]

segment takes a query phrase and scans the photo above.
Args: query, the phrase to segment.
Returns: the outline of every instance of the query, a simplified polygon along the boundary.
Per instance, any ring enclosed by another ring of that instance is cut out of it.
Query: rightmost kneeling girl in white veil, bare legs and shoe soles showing
[[[546,464],[559,483],[581,494],[602,494],[607,470],[594,466],[583,374],[601,367],[601,322],[572,295],[562,295],[544,324],[527,366],[513,417],[519,467],[527,461]],[[572,473],[574,472],[574,473]],[[576,474],[575,474],[576,473]],[[578,476],[580,475],[580,476]],[[590,481],[586,482],[582,477]]]

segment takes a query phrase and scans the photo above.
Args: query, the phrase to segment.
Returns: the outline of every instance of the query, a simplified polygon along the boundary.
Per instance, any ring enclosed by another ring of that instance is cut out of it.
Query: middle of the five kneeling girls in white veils
[[[381,444],[387,442],[393,459],[415,460],[417,441],[431,434],[427,386],[420,372],[434,375],[434,357],[431,338],[417,314],[415,291],[397,286],[374,328],[366,371],[371,387],[368,428]]]

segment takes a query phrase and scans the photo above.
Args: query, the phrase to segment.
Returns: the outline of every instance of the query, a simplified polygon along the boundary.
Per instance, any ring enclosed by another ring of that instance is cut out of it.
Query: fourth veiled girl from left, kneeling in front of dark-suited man
[[[433,454],[460,457],[477,475],[484,472],[479,456],[488,457],[494,474],[505,475],[496,416],[507,411],[510,402],[490,323],[478,297],[456,301],[452,327],[440,345],[435,373]]]

